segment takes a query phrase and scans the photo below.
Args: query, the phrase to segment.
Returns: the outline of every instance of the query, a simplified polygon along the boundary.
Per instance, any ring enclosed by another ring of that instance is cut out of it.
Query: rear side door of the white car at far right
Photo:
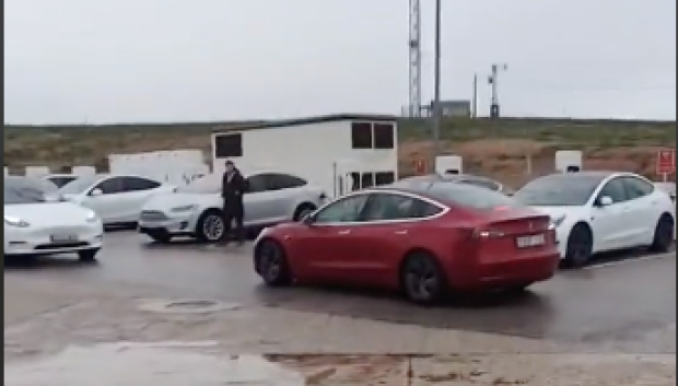
[[[654,185],[638,177],[621,178],[629,198],[629,214],[633,222],[627,224],[631,230],[629,242],[631,246],[651,243],[657,220],[662,214],[659,199],[653,195]]]

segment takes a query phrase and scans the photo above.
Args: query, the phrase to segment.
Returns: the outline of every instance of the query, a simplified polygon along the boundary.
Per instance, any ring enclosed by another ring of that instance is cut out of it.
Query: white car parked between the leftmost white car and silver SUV
[[[59,192],[66,199],[95,211],[104,225],[136,225],[145,201],[153,195],[174,189],[175,186],[147,177],[95,174],[66,184]]]

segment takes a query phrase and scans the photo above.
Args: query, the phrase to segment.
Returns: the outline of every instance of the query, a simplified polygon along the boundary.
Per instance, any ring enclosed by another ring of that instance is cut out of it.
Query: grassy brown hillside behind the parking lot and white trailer
[[[232,122],[231,125],[236,125]],[[170,149],[202,149],[209,154],[209,133],[223,122],[4,126],[4,163],[11,168],[48,165],[58,171],[69,165],[106,167],[106,155]],[[225,124],[229,125],[229,124]],[[400,121],[400,160],[404,174],[411,173],[416,157],[431,151],[430,124]],[[676,122],[518,119],[448,119],[441,137],[445,153],[465,159],[465,169],[519,185],[553,168],[553,153],[582,150],[587,168],[616,168],[654,177],[657,149],[675,147]],[[527,157],[531,173],[527,173]]]

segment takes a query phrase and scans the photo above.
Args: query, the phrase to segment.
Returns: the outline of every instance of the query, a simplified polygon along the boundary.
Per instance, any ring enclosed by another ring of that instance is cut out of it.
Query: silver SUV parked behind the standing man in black
[[[326,199],[323,189],[289,174],[257,173],[249,175],[247,183],[244,225],[249,229],[299,221]],[[218,242],[225,229],[222,207],[221,175],[210,174],[149,200],[141,211],[139,231],[163,243],[174,236]]]

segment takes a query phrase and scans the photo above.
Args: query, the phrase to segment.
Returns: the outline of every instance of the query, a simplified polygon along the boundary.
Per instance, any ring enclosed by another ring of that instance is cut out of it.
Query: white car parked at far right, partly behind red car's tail
[[[528,183],[514,198],[551,217],[570,266],[583,266],[601,252],[642,246],[667,252],[674,243],[674,202],[636,174],[553,174]]]

